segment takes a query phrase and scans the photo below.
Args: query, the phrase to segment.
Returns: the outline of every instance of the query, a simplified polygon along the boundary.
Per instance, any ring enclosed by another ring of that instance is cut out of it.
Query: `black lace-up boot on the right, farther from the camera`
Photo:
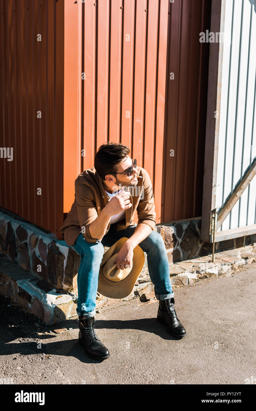
[[[172,337],[179,339],[185,337],[186,330],[179,321],[174,309],[174,298],[159,300],[157,320],[166,326],[166,331]]]

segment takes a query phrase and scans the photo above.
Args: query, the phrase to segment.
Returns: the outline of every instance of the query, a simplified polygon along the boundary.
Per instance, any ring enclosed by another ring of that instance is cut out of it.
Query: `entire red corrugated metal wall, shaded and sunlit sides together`
[[[78,173],[102,143],[121,141],[151,176],[157,222],[201,215],[208,48],[199,32],[210,1],[0,5],[1,145],[14,148],[12,162],[0,160],[1,206],[61,238]]]

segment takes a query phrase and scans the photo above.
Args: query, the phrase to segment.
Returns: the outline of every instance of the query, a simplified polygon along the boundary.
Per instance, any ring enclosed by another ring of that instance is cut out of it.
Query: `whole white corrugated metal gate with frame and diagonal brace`
[[[215,242],[256,233],[256,0],[213,0],[210,31],[201,238]]]

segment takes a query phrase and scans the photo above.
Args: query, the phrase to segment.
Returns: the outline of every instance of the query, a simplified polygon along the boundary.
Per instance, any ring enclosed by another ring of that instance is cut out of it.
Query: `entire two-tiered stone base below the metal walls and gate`
[[[165,241],[174,287],[198,281],[203,276],[216,276],[219,270],[226,272],[231,264],[247,264],[255,259],[256,235],[253,235],[216,243],[216,263],[208,263],[206,260],[209,258],[204,256],[212,253],[212,244],[200,240],[200,230],[201,218],[155,227]],[[240,250],[245,246],[248,247]],[[71,247],[66,247],[64,241],[44,233],[33,224],[0,212],[0,254],[1,293],[48,324],[77,315],[80,256]],[[121,300],[97,293],[96,312],[103,306],[135,296],[142,302],[154,299],[145,252],[144,257],[144,267],[132,293]]]

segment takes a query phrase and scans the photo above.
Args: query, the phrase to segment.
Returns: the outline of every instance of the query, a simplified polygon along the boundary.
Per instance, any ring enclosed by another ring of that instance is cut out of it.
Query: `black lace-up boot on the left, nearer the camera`
[[[87,356],[94,360],[105,360],[106,358],[109,358],[110,353],[107,347],[100,341],[94,330],[94,317],[83,319],[82,316],[78,316],[78,319],[78,340],[84,347]]]

